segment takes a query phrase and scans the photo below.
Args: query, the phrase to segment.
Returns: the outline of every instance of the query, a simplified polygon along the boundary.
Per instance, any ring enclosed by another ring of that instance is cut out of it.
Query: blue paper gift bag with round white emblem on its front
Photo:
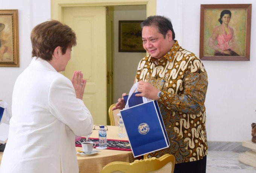
[[[134,157],[169,147],[156,100],[124,109],[120,113]]]

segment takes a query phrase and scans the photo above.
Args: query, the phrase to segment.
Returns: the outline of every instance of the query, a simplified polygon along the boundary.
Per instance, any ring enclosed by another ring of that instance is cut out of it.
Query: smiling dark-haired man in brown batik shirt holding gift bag
[[[171,21],[151,16],[141,23],[144,49],[149,53],[138,65],[136,96],[157,100],[170,147],[144,155],[175,156],[174,173],[206,172],[206,114],[204,100],[208,86],[201,60],[179,46]],[[123,94],[125,96],[126,94]],[[118,99],[114,109],[123,109]]]

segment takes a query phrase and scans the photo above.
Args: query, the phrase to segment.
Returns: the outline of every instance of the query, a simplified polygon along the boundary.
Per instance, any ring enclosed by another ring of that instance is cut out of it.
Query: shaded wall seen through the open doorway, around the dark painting
[[[139,61],[146,55],[138,52],[118,52],[118,21],[145,19],[146,5],[114,7],[114,103],[123,93],[129,93]]]

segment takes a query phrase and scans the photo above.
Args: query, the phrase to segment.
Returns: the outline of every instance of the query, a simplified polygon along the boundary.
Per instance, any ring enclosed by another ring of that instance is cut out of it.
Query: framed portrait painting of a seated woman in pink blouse
[[[201,5],[202,60],[250,61],[251,4]]]

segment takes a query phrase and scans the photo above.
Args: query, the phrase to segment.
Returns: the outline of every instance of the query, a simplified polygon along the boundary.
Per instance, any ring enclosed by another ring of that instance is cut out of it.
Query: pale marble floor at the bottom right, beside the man
[[[206,173],[256,173],[256,168],[238,160],[238,152],[208,150]]]

